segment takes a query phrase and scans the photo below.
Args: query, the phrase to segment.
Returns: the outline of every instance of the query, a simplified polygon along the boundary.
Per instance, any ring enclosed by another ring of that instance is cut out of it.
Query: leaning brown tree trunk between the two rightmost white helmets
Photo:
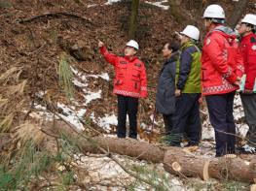
[[[231,28],[234,29],[237,26],[238,21],[242,14],[245,12],[248,3],[249,0],[240,0],[237,2],[236,8],[232,16],[228,18],[228,24],[231,26]]]

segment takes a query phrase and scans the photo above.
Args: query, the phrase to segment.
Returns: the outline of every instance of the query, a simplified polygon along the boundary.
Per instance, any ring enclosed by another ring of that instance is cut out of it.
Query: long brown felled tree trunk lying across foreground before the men
[[[164,163],[165,171],[172,175],[201,177],[207,180],[231,179],[253,182],[256,178],[254,168],[256,161],[249,164],[239,158],[203,158],[187,153],[181,148],[161,147],[151,143],[138,142],[131,139],[93,138],[93,141],[109,152],[136,157],[149,162]],[[82,146],[84,151],[99,152],[91,143]]]

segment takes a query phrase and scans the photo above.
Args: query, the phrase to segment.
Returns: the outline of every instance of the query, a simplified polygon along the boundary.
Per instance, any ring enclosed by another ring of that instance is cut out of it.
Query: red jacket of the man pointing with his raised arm
[[[121,57],[109,53],[107,48],[100,48],[106,61],[115,67],[114,93],[129,97],[142,97],[148,95],[147,77],[144,63],[134,57]]]

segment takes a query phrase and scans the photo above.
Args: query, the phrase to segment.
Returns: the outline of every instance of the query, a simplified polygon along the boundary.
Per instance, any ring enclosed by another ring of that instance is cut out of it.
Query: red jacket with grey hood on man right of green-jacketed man
[[[238,89],[234,83],[243,74],[243,63],[236,36],[228,30],[217,26],[204,39],[201,56],[203,95],[225,94]]]

